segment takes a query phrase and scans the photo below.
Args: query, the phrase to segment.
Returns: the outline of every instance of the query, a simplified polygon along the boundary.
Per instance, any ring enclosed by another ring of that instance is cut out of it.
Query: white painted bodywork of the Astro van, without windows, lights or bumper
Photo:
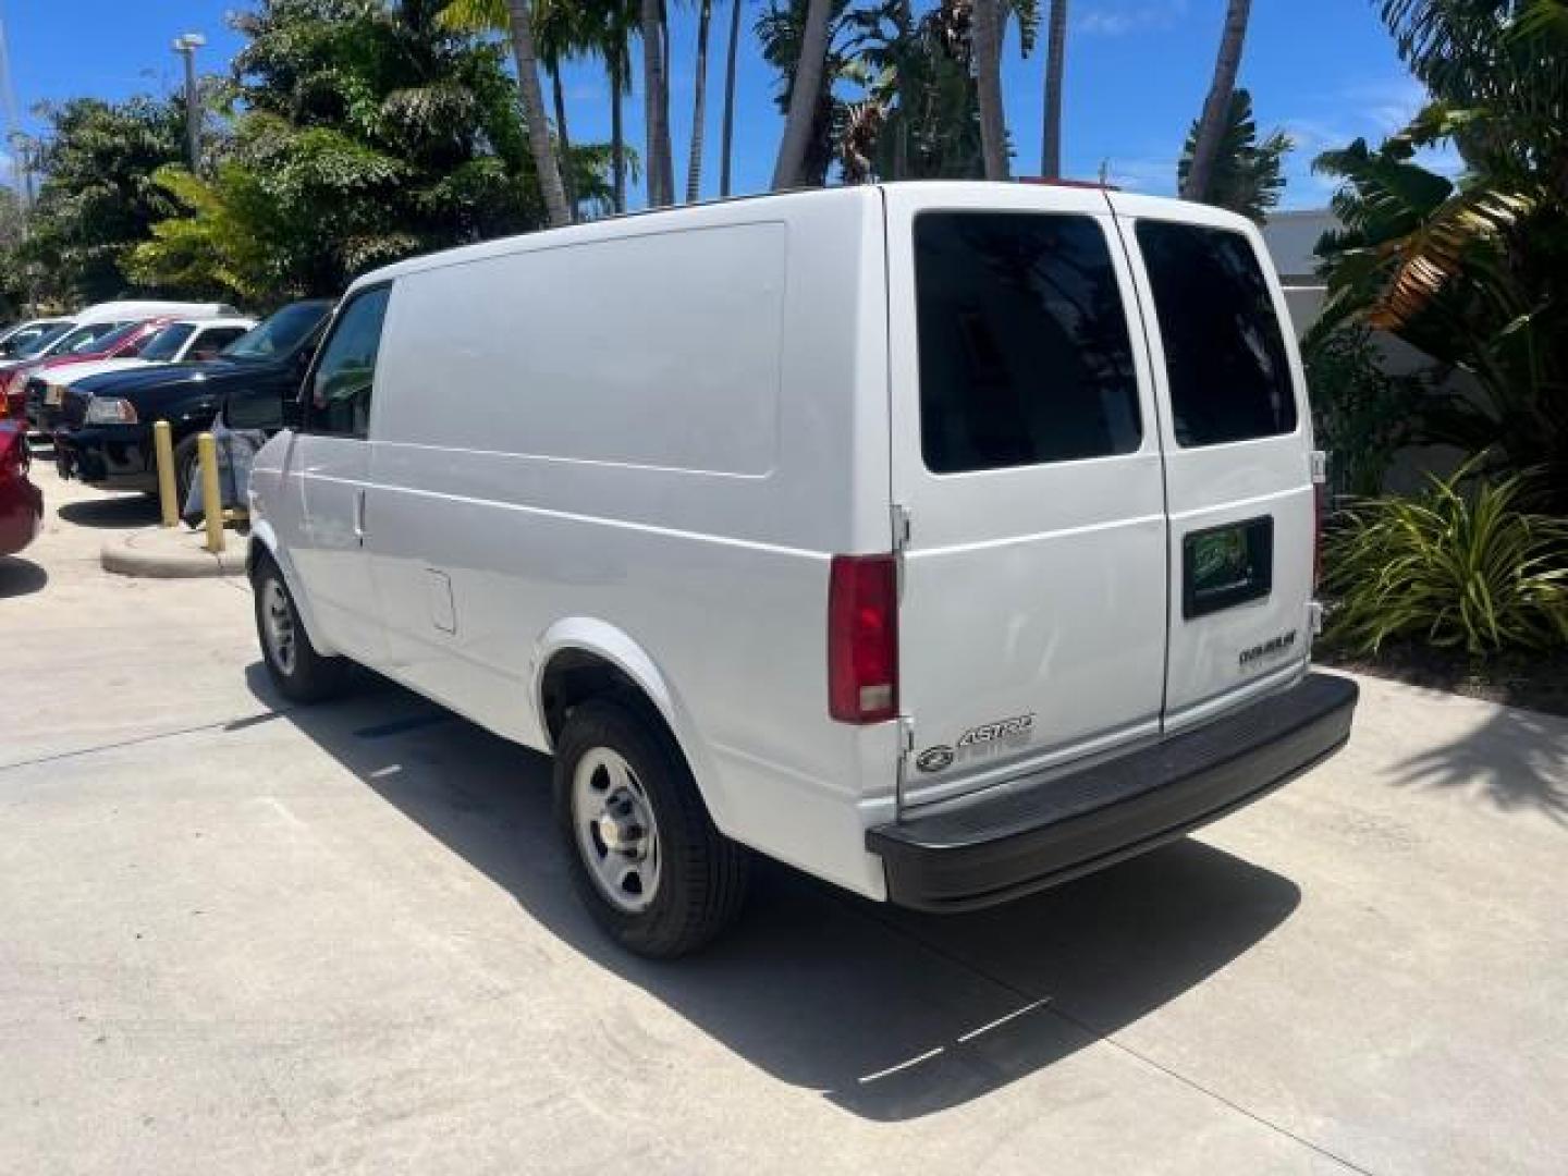
[[[909,240],[931,210],[1087,218],[1104,237],[1134,448],[925,467]],[[1236,652],[1286,624],[1303,629],[1300,657],[1309,643],[1305,403],[1294,434],[1178,452],[1126,230],[1140,216],[1212,216],[1258,241],[1193,205],[925,183],[646,213],[387,267],[345,298],[389,292],[365,433],[268,442],[257,535],[321,652],[541,751],[552,659],[602,659],[665,718],[724,834],[883,898],[867,829],[1300,676],[1292,660],[1239,677]],[[1284,591],[1187,624],[1173,530],[1261,510],[1281,516]],[[831,561],[895,546],[903,717],[839,723]],[[1025,713],[1027,740],[930,778],[911,767],[922,746]]]

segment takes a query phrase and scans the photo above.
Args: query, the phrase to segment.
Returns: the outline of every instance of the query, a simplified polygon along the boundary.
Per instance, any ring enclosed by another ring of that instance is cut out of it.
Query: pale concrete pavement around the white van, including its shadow
[[[655,966],[549,765],[278,709],[235,579],[0,561],[0,1171],[1475,1173],[1568,1156],[1568,721],[1377,681],[1336,760],[982,916],[762,873]],[[61,511],[66,517],[60,517]]]

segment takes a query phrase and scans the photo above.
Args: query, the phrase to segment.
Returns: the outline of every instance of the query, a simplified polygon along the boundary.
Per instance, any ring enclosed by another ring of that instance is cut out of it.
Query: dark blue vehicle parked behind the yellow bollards
[[[63,394],[53,433],[61,477],[105,489],[157,492],[152,425],[168,420],[183,502],[196,469],[196,436],[212,425],[230,394],[271,405],[293,395],[331,309],[326,299],[292,303],[205,362],[74,381]]]

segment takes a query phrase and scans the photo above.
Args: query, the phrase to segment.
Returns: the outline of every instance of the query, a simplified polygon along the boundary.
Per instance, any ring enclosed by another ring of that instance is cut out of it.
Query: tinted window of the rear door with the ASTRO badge
[[[1138,448],[1127,315],[1094,220],[922,213],[914,274],[927,469],[961,474]]]

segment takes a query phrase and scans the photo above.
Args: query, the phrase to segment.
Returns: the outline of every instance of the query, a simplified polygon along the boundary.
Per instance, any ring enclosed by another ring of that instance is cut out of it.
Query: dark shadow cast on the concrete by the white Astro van
[[[276,706],[262,666],[248,677]],[[546,756],[370,676],[354,699],[285,717],[575,950],[870,1120],[960,1105],[1069,1057],[1223,969],[1300,902],[1289,880],[1190,839],[946,917],[759,862],[740,925],[657,964],[615,947],[579,905]]]

